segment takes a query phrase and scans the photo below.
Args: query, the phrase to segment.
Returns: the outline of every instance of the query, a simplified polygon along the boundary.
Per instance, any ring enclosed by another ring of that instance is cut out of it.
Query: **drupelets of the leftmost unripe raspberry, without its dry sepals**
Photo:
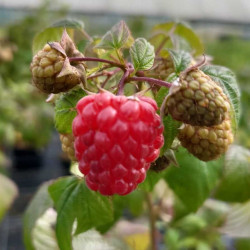
[[[46,44],[33,58],[30,65],[33,84],[45,93],[67,91],[81,82],[78,74],[58,76],[65,56]]]

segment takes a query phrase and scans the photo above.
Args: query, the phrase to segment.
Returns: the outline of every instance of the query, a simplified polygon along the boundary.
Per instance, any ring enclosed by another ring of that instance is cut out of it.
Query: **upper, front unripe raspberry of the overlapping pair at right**
[[[173,85],[166,112],[178,121],[194,126],[221,124],[230,109],[222,88],[201,70],[191,70]]]

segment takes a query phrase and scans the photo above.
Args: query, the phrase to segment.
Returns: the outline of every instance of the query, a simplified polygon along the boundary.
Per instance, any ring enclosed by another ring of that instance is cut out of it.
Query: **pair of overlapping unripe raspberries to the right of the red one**
[[[218,158],[232,143],[229,111],[222,88],[199,69],[181,75],[166,102],[166,112],[184,123],[178,135],[182,146],[203,161]]]

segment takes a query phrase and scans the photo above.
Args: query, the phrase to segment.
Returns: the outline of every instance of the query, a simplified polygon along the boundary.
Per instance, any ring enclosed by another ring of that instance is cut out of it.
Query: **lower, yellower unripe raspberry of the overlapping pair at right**
[[[183,125],[178,134],[181,145],[202,161],[211,161],[225,153],[233,142],[230,120],[213,127]]]

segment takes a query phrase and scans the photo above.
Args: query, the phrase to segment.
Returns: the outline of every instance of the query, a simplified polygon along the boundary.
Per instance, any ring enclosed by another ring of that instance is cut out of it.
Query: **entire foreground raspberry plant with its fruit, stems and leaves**
[[[73,163],[72,176],[45,183],[27,209],[27,249],[34,249],[36,220],[51,207],[58,246],[69,250],[76,235],[107,232],[125,208],[145,213],[145,202],[157,249],[160,205],[152,194],[160,180],[173,192],[173,225],[211,193],[224,199],[223,154],[237,130],[240,92],[229,69],[200,59],[202,43],[189,27],[159,24],[146,40],[121,21],[90,37],[81,22],[63,20],[34,38],[33,52],[32,83],[50,94]]]

